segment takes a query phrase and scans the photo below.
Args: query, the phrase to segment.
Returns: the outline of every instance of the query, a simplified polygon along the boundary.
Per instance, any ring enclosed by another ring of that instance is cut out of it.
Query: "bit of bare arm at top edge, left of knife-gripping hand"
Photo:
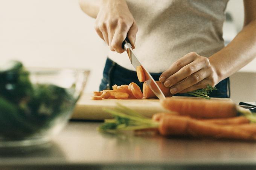
[[[96,18],[99,12],[101,0],[79,0],[82,11],[90,17]]]

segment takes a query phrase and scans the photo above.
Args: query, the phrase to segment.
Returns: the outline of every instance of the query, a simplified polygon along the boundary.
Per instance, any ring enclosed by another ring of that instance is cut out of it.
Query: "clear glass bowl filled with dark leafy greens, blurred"
[[[68,122],[89,71],[0,69],[0,147],[46,143]]]

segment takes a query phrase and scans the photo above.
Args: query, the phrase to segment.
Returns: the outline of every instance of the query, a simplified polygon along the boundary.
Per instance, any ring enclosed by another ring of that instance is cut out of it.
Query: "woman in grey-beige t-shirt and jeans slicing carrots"
[[[244,27],[224,47],[222,25],[227,2],[80,0],[82,10],[96,18],[96,32],[111,50],[100,90],[132,81],[139,84],[122,49],[127,36],[143,66],[172,94],[210,84],[218,89],[211,97],[228,98],[228,77],[256,56],[256,1],[244,0]]]

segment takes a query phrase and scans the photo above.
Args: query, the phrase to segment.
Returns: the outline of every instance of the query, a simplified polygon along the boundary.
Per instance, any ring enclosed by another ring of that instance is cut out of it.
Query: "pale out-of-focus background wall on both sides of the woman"
[[[242,29],[242,0],[230,0],[224,23],[225,44]],[[91,71],[85,92],[96,91],[108,48],[94,31],[94,19],[78,0],[0,0],[0,62],[21,60],[28,67]],[[256,59],[230,77],[231,98],[256,101]]]

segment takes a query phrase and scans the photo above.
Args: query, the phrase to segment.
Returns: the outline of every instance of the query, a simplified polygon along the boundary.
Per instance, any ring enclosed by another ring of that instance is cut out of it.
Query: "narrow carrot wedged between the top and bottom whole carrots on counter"
[[[218,125],[240,125],[240,124],[250,123],[250,120],[248,120],[244,116],[228,117],[228,118],[221,118],[221,119],[203,119],[203,121],[207,123],[218,124]]]

